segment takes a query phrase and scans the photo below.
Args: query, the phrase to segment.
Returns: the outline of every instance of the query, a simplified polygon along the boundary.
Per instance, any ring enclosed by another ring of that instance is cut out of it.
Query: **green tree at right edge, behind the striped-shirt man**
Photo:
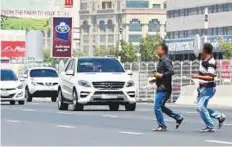
[[[229,42],[226,40],[220,40],[219,47],[220,47],[220,49],[222,49],[225,59],[232,58],[232,42]]]

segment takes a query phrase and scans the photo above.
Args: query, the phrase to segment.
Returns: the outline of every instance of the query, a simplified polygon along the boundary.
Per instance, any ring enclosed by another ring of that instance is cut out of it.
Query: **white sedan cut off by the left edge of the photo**
[[[25,92],[23,84],[11,69],[0,69],[0,99],[1,101],[9,101],[11,105],[18,102],[19,105],[25,103]]]

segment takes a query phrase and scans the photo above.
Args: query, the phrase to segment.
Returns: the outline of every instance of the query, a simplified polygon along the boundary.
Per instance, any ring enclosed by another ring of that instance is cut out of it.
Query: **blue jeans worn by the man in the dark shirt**
[[[176,114],[172,110],[165,107],[165,103],[169,99],[170,95],[171,95],[171,92],[156,92],[155,100],[154,100],[155,102],[154,112],[155,112],[158,125],[164,128],[166,128],[166,125],[164,123],[162,112],[168,115],[169,117],[174,118],[175,120],[182,118],[179,114]]]

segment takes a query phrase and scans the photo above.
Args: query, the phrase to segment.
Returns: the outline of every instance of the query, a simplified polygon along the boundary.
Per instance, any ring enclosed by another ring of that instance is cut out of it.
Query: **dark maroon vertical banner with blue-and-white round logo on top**
[[[71,57],[72,18],[54,17],[52,20],[52,28],[52,57]]]

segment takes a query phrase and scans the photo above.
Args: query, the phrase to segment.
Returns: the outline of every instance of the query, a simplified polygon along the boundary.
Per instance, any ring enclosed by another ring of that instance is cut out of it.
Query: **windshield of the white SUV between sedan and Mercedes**
[[[33,69],[30,72],[30,77],[58,77],[55,70],[52,69]]]

